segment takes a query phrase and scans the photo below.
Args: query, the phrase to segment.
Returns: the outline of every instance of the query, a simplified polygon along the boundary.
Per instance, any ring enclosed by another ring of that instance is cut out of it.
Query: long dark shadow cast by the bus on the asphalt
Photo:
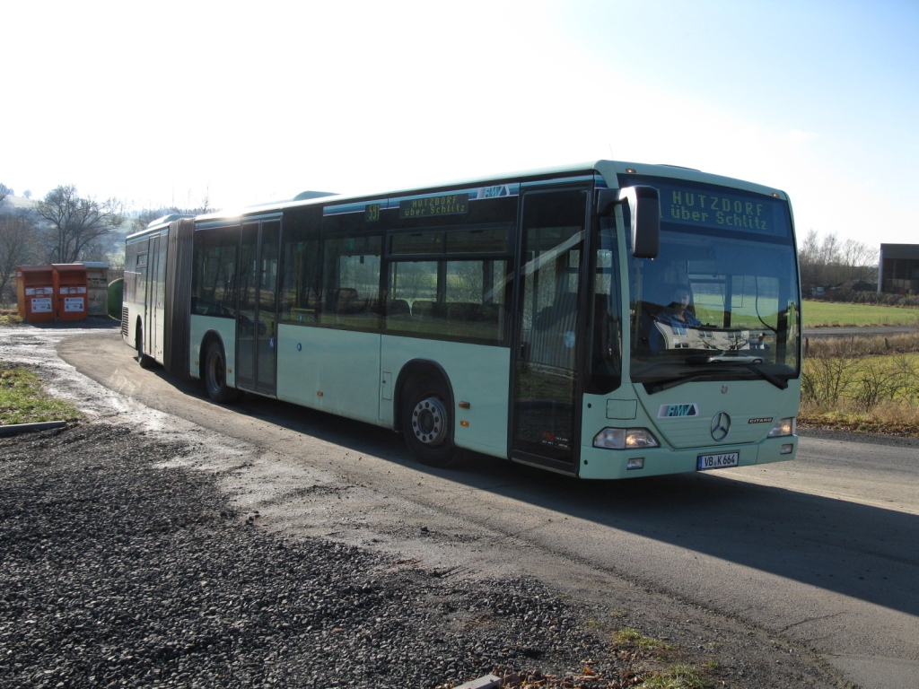
[[[212,405],[196,380],[162,368],[144,375]],[[378,426],[255,396],[225,409],[446,480],[460,492],[488,491],[582,520],[587,530],[590,523],[617,529],[919,616],[919,515],[732,479],[731,469],[594,482],[478,454],[458,469],[431,469],[409,456],[400,435]]]

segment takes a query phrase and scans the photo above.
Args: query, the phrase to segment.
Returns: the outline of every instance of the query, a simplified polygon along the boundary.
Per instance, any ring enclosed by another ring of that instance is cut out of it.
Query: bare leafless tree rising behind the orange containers
[[[81,198],[70,185],[48,192],[35,212],[50,225],[46,245],[51,263],[73,263],[90,245],[119,227],[123,209],[114,198],[102,203]]]

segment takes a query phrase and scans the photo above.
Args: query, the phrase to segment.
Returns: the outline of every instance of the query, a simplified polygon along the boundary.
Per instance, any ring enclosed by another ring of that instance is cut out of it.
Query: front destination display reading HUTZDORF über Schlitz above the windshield
[[[674,222],[721,231],[752,232],[773,237],[789,237],[788,205],[759,194],[739,189],[699,185],[685,186],[660,178],[630,184],[650,184],[661,199],[661,222]]]

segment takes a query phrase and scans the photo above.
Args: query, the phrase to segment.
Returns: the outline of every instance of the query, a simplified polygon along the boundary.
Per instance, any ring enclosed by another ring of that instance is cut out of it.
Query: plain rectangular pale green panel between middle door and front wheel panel
[[[278,400],[380,425],[380,334],[279,325]]]

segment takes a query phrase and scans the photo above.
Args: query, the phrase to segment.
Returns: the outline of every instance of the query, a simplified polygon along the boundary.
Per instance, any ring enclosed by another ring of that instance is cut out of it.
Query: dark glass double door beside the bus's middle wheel
[[[236,385],[274,395],[278,385],[278,220],[243,225],[236,312]]]

